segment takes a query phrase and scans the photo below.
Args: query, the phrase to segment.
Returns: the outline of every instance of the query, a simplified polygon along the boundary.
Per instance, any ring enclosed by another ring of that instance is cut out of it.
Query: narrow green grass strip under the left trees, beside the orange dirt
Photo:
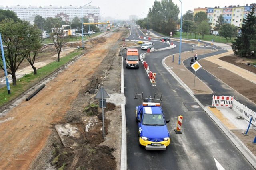
[[[17,85],[12,86],[10,83],[10,91],[11,94],[8,94],[6,86],[0,89],[0,107],[8,102],[14,100],[22,93],[26,92],[29,88],[34,86],[36,83],[40,82],[42,79],[46,78],[52,72],[58,70],[61,66],[64,66],[66,63],[71,61],[75,56],[82,54],[82,50],[74,50],[72,53],[66,55],[65,57],[60,58],[60,61],[54,61],[52,63],[47,64],[46,66],[39,68],[37,70],[37,74],[33,73],[26,74],[22,78],[16,80]]]

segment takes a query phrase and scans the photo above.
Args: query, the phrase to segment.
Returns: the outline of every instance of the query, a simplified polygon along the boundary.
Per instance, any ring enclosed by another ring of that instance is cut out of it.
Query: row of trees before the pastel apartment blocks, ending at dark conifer
[[[176,29],[180,24],[178,18],[180,10],[172,0],[154,1],[154,5],[149,9],[148,15],[144,19],[136,21],[136,24],[142,28],[153,29],[154,31],[170,35],[170,32],[176,34]],[[232,42],[232,49],[235,54],[243,57],[256,57],[256,16],[255,4],[252,10],[248,13],[245,20],[243,20],[242,27],[236,27],[227,23],[223,16],[218,16],[214,30],[217,30],[221,37],[234,39]],[[241,31],[238,36],[238,30]],[[188,10],[182,16],[182,31],[183,33],[193,33],[196,39],[197,35],[204,35],[211,33],[211,23],[209,23],[208,16],[205,12],[198,12],[195,15],[191,10]]]

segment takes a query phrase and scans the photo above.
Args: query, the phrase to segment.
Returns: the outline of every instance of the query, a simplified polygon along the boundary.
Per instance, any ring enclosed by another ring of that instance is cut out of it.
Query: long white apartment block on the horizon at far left
[[[72,21],[74,17],[82,17],[82,6],[44,6],[44,7],[37,7],[37,6],[1,6],[0,9],[2,10],[10,10],[14,11],[18,18],[21,20],[26,21],[33,21],[35,16],[40,15],[43,18],[52,17],[55,18],[56,16],[62,17],[63,20],[66,21]],[[90,16],[90,14],[94,14],[94,16],[100,17],[100,7],[96,6],[84,6],[83,7],[83,17],[84,16]],[[100,18],[98,18],[98,21],[100,21]]]

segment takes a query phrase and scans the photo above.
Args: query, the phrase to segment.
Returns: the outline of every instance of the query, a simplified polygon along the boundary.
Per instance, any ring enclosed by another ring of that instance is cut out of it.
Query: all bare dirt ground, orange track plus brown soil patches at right
[[[127,37],[127,33],[127,29],[122,29],[104,37],[86,41],[84,55],[77,57],[75,62],[45,80],[43,84],[46,84],[46,87],[36,96],[25,101],[29,94],[25,95],[11,104],[9,109],[2,111],[4,116],[0,117],[0,169],[42,170],[60,167],[81,170],[120,169],[121,108],[118,102],[121,99],[118,94],[121,86],[121,60],[119,51],[122,47],[122,39]],[[81,44],[81,42],[73,43],[69,47],[81,47]],[[130,44],[127,43],[126,46]],[[54,59],[52,55],[52,50],[48,50],[48,55],[39,57],[36,62],[46,59],[55,61],[56,58]],[[246,65],[241,59],[241,62],[237,62],[234,56],[221,59],[238,64],[240,67]],[[213,72],[217,78],[222,78],[223,72],[216,71],[218,69],[214,68],[213,63],[205,60],[200,64],[209,72]],[[24,63],[22,67],[24,66],[27,64]],[[256,70],[249,66],[245,66],[244,69]],[[227,71],[225,74],[232,76],[232,72]],[[186,76],[180,76],[180,78],[184,81],[187,79]],[[227,80],[223,79],[222,81],[232,86],[237,84],[234,86],[235,90],[253,99],[253,95],[250,96],[250,94],[255,94],[255,84],[250,84],[250,93],[246,94],[247,90],[240,86],[240,80],[228,79],[226,82]],[[100,86],[104,86],[112,101],[110,103],[107,99],[107,106],[104,109],[105,140],[102,130],[102,109],[93,105],[99,103],[94,97]],[[34,92],[34,90],[31,91]],[[206,88],[199,92],[194,89],[194,92],[204,94],[210,93],[210,90]],[[56,131],[57,125],[74,127],[75,135],[71,132],[67,135],[70,141],[60,139]],[[240,131],[234,131],[234,133],[256,154],[252,141],[241,135]]]

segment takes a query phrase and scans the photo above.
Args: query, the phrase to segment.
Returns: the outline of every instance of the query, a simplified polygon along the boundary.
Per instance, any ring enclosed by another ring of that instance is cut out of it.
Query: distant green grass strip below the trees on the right
[[[172,37],[175,38],[180,38],[180,32],[177,32],[176,35],[172,35]],[[196,38],[195,38],[195,34],[192,33],[182,33],[182,39],[198,39],[198,34],[196,34]],[[218,42],[218,43],[231,43],[233,41],[233,39],[231,38],[228,39],[228,42],[225,38],[220,37],[220,36],[215,36],[215,35],[204,35],[204,38],[202,37],[202,35],[199,36],[200,40],[203,41],[212,41],[212,39],[214,39],[214,42]]]

